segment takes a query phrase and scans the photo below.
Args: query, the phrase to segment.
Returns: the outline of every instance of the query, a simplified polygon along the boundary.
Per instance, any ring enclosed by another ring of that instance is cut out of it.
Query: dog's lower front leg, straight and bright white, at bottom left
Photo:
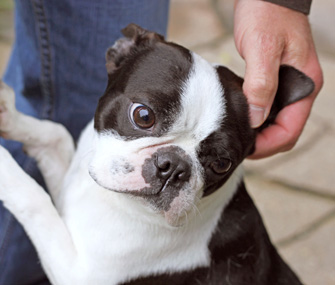
[[[50,196],[0,146],[0,200],[19,220],[53,284],[77,284],[76,250]]]

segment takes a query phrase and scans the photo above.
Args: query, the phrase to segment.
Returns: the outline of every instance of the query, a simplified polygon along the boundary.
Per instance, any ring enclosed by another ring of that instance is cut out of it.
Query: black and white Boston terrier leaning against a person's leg
[[[0,200],[53,284],[301,284],[248,196],[243,80],[134,24],[107,52],[108,85],[76,152],[64,127],[18,112],[0,83],[0,134],[39,164],[50,196],[0,147]],[[269,119],[313,90],[280,70]]]

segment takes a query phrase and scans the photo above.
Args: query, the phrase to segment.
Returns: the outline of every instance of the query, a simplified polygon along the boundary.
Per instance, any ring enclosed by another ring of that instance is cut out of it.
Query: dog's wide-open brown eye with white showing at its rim
[[[133,123],[141,129],[150,129],[155,124],[155,114],[147,106],[135,103],[130,110]]]

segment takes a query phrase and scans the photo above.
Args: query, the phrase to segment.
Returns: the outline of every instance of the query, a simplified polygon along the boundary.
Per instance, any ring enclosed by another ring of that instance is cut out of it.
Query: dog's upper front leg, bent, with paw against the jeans
[[[36,159],[54,201],[74,153],[71,135],[60,124],[26,116],[15,109],[15,95],[0,80],[0,135],[23,143]]]

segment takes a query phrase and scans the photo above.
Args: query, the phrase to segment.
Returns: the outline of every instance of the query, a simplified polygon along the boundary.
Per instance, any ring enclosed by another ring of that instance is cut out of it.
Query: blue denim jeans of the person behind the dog
[[[133,22],[165,34],[168,9],[169,0],[16,0],[16,39],[4,81],[15,90],[17,109],[62,123],[76,140],[104,92],[105,51],[120,29]],[[0,143],[44,185],[19,143]],[[45,282],[33,246],[0,202],[0,285]]]

